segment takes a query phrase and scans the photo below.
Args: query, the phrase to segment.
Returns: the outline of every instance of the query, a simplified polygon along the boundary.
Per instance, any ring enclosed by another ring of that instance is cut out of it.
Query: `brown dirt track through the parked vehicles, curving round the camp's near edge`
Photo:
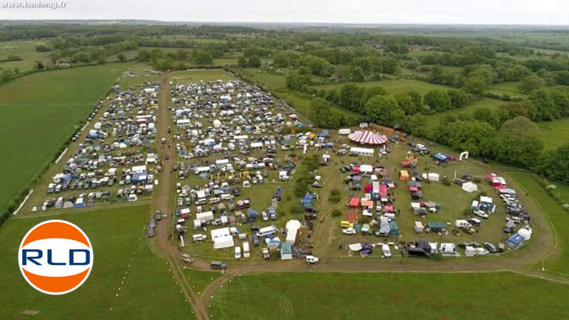
[[[530,277],[540,277],[555,282],[569,284],[567,279],[546,276],[542,272],[536,272],[536,265],[541,263],[544,256],[555,248],[555,237],[553,236],[552,226],[546,218],[540,213],[539,208],[528,196],[520,195],[523,203],[526,204],[528,210],[533,214],[533,224],[538,232],[534,233],[531,245],[524,246],[519,252],[510,252],[504,257],[484,257],[479,259],[445,259],[442,262],[425,261],[410,258],[393,258],[390,261],[377,258],[362,259],[360,257],[338,258],[334,256],[334,249],[320,252],[321,265],[307,266],[301,261],[283,262],[278,265],[267,266],[260,260],[255,265],[233,266],[230,265],[222,277],[211,282],[211,284],[203,290],[198,296],[191,290],[182,271],[182,262],[179,259],[179,252],[176,242],[169,240],[171,234],[173,212],[173,196],[174,181],[172,179],[172,165],[176,161],[174,141],[167,132],[167,127],[171,125],[171,112],[168,110],[170,98],[168,74],[165,73],[161,80],[161,94],[159,95],[159,121],[158,121],[158,139],[166,138],[165,144],[160,144],[159,151],[161,154],[168,155],[169,160],[163,157],[162,172],[159,175],[159,187],[154,198],[154,210],[160,209],[167,218],[158,223],[156,229],[156,242],[158,249],[162,255],[169,261],[171,271],[176,277],[182,292],[188,302],[190,302],[194,313],[199,320],[210,319],[208,305],[211,297],[220,285],[228,281],[228,279],[238,276],[239,274],[260,273],[260,272],[499,272],[511,271],[525,274]],[[470,163],[473,166],[483,166]],[[483,166],[484,169],[490,170],[489,167]],[[504,173],[500,173],[506,176]],[[520,186],[512,181],[514,188],[521,190]],[[329,214],[324,215],[326,219]],[[315,235],[322,233],[330,235],[330,230],[322,228],[324,223],[317,223]],[[191,265],[192,269],[210,270],[209,263],[205,260],[197,260]]]

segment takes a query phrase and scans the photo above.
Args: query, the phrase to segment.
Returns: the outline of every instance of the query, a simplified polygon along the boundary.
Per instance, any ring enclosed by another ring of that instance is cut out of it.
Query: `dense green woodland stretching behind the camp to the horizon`
[[[569,39],[569,31],[555,32]],[[105,64],[110,57],[149,63],[157,70],[184,70],[213,68],[216,59],[233,57],[235,63],[226,68],[283,77],[289,92],[312,100],[312,112],[304,115],[318,127],[376,122],[569,182],[569,144],[544,151],[536,124],[569,117],[569,51],[563,52],[569,45],[564,41],[329,28],[0,26],[0,41],[21,40],[36,41],[36,51],[48,53],[50,63],[37,63],[36,70]],[[19,70],[1,72],[0,82],[7,82]],[[388,92],[383,80],[418,80],[440,88],[423,94]],[[363,85],[369,81],[379,85]],[[518,93],[491,90],[509,82],[516,83]],[[338,83],[333,89],[320,87]],[[460,110],[484,97],[503,104],[445,114],[427,125],[432,114]]]

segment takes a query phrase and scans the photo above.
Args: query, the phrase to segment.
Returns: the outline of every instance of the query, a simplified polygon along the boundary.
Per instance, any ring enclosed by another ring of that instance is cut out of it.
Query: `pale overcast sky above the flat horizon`
[[[0,0],[0,19],[569,24],[568,0],[63,0],[55,10],[3,8],[25,1]]]

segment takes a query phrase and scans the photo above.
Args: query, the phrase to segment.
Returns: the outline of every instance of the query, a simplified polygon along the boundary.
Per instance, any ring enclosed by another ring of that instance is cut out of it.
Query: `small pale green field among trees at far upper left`
[[[41,41],[10,41],[0,42],[0,60],[5,60],[10,55],[17,55],[21,60],[0,62],[0,70],[14,70],[20,72],[32,70],[38,62],[44,65],[51,63],[49,52],[36,52],[36,45]]]

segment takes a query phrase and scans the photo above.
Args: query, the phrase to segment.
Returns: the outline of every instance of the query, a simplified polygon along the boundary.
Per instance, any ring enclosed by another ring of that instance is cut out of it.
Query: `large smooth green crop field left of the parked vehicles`
[[[0,86],[0,208],[26,186],[122,73],[122,65],[46,71]],[[88,85],[87,85],[88,83]]]

